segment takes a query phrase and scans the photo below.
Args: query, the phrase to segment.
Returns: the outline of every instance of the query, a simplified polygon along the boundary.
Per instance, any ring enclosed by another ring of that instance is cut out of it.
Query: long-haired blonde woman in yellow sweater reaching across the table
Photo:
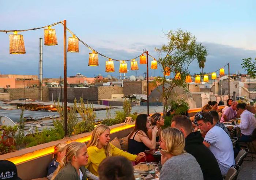
[[[123,156],[131,161],[139,161],[141,158],[145,157],[145,153],[143,152],[139,153],[138,156],[124,152],[109,141],[109,127],[105,125],[96,126],[91,135],[91,141],[87,144],[89,158],[88,164],[86,165],[88,170],[96,176],[99,176],[99,164],[101,164],[101,161],[103,161],[106,157]]]

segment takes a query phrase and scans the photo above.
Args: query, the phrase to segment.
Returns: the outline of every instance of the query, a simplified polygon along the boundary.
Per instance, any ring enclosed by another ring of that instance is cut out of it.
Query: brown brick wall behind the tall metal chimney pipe
[[[10,99],[20,99],[20,98],[30,98],[33,100],[39,100],[39,88],[25,88],[25,95],[24,95],[24,88],[12,88],[6,89],[6,92],[10,94]],[[49,92],[48,88],[43,88],[43,101],[49,101]]]

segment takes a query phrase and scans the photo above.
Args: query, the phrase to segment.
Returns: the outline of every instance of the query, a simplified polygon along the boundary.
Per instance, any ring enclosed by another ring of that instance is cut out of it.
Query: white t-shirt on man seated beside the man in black
[[[219,164],[221,174],[226,175],[230,166],[235,164],[234,150],[230,137],[222,128],[214,126],[206,133],[204,141],[211,145],[209,149]]]

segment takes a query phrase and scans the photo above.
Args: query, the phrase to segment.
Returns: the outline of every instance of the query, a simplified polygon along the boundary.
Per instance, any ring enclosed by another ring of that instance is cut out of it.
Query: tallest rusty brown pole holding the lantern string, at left
[[[64,20],[64,131],[68,135],[68,108],[67,108],[67,22]]]

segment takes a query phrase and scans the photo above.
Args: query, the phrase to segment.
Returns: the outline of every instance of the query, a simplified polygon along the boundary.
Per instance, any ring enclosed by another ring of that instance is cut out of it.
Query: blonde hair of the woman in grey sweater
[[[164,152],[170,153],[173,156],[185,153],[185,137],[183,133],[174,127],[168,127],[162,131],[161,137],[166,143]]]

